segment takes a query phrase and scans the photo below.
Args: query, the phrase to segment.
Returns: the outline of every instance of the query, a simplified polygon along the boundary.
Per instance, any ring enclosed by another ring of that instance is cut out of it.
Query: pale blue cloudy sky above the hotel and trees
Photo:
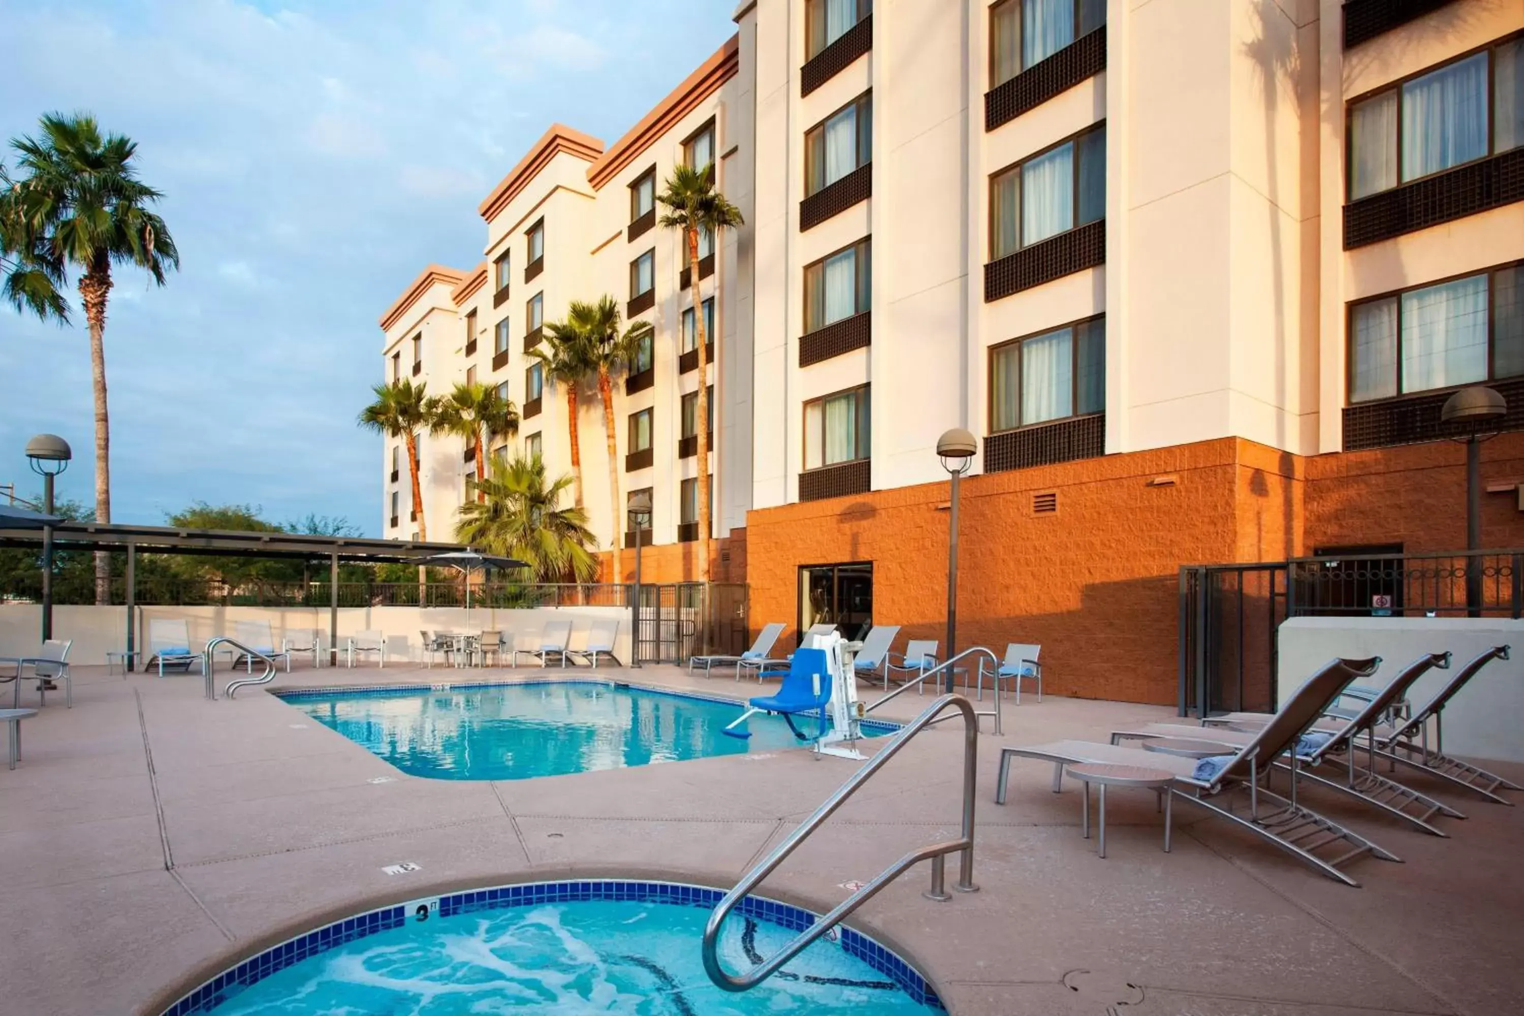
[[[733,0],[0,0],[0,139],[88,110],[139,142],[181,271],[116,277],[113,519],[204,500],[379,532],[376,318],[552,120],[613,142],[728,38]],[[11,161],[9,152],[3,157]],[[62,434],[93,504],[82,326],[0,309],[0,483]]]

